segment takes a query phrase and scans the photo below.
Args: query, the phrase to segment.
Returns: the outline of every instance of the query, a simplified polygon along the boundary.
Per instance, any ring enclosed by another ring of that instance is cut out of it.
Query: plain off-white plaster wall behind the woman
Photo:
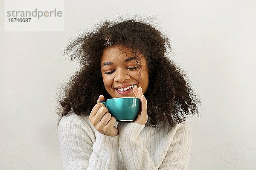
[[[62,48],[119,16],[151,17],[202,99],[189,170],[256,167],[256,1],[65,1],[64,32],[5,32],[0,1],[0,169],[61,170],[56,89],[77,70]]]

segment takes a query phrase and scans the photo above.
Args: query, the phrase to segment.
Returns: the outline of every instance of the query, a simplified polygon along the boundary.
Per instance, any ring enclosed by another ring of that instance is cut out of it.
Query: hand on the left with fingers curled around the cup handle
[[[108,108],[103,103],[100,103],[101,101],[104,102],[103,95],[99,96],[97,104],[90,113],[89,120],[99,133],[107,136],[116,136],[118,135],[118,129],[114,126],[116,118],[111,116]]]

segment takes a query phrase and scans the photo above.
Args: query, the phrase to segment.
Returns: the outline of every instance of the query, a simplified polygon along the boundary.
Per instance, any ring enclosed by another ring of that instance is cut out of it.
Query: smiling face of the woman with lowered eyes
[[[102,78],[108,94],[113,98],[135,97],[131,85],[141,87],[143,94],[147,91],[148,67],[143,55],[139,57],[140,72],[131,49],[115,45],[103,51],[100,62]]]

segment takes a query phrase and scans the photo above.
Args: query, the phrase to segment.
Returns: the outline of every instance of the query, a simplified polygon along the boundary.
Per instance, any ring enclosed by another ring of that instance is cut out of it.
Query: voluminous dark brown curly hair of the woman
[[[80,68],[61,88],[58,103],[58,122],[71,109],[81,116],[89,115],[99,95],[111,96],[105,90],[100,68],[103,50],[123,45],[146,59],[149,84],[145,92],[148,106],[146,127],[158,128],[159,123],[181,123],[186,116],[198,114],[197,95],[185,80],[186,74],[167,57],[169,40],[150,23],[138,20],[104,21],[93,31],[81,33],[64,50],[71,60],[77,59]],[[137,64],[140,60],[137,58]],[[199,115],[199,114],[198,114]]]

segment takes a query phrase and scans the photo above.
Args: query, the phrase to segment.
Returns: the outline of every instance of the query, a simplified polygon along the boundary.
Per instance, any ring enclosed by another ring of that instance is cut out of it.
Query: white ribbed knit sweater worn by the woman
[[[119,122],[117,136],[99,133],[88,116],[70,112],[58,126],[65,170],[187,170],[192,142],[188,123],[145,125]],[[144,128],[145,127],[145,128]]]

